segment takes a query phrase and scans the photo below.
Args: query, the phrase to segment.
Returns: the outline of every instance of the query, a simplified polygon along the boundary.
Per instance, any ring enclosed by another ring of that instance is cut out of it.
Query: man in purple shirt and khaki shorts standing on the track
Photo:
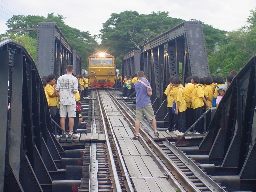
[[[151,100],[149,95],[152,95],[152,89],[150,83],[144,79],[145,75],[143,71],[138,71],[138,82],[135,84],[136,90],[136,122],[135,122],[135,136],[132,139],[139,140],[139,124],[143,119],[143,115],[146,115],[147,119],[152,122],[154,128],[155,136],[159,136],[156,130],[156,119],[154,115],[154,110],[151,105]]]

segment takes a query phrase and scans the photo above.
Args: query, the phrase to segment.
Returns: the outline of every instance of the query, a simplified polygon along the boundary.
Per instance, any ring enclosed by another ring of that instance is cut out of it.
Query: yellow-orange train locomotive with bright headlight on
[[[116,83],[115,57],[95,53],[88,57],[89,83],[92,89],[112,88]]]

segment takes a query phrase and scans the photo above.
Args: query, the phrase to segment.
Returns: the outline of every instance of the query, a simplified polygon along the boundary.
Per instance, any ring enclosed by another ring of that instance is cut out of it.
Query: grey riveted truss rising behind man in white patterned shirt
[[[67,65],[73,65],[72,52],[72,46],[56,23],[38,23],[36,66],[40,76],[54,74],[58,78],[65,74]]]

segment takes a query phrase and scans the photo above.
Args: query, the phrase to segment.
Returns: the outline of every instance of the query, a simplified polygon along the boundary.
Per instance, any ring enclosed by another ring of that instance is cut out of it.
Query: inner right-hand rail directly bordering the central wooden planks
[[[109,91],[108,91],[109,92]],[[109,92],[109,95],[112,95],[112,93]],[[127,123],[130,124],[130,127],[132,127],[135,130],[135,127],[133,126],[133,124],[131,123],[131,121],[127,118],[127,115],[133,119],[133,117],[131,117],[131,115],[129,113],[124,113],[123,110],[121,110],[121,108],[123,108],[121,106],[121,104],[118,102],[118,100],[112,95],[112,98],[115,100],[115,105],[116,107],[119,109],[119,112],[124,116],[124,118],[127,120]],[[120,108],[121,107],[121,108]],[[133,119],[134,120],[134,119]],[[135,122],[135,121],[134,121]],[[152,158],[154,158],[154,160],[158,163],[158,165],[164,170],[164,172],[168,175],[168,177],[171,179],[171,184],[173,186],[175,186],[175,188],[178,189],[179,192],[186,192],[186,190],[181,186],[181,184],[176,180],[176,178],[173,176],[173,174],[168,170],[168,168],[164,165],[164,163],[159,159],[159,157],[155,154],[155,152],[148,146],[147,141],[141,137],[140,141],[142,141],[142,143],[144,144],[144,147],[147,148],[147,151],[150,153],[150,155],[152,156]],[[154,141],[153,141],[154,142]],[[198,190],[197,192],[199,192],[200,190]]]

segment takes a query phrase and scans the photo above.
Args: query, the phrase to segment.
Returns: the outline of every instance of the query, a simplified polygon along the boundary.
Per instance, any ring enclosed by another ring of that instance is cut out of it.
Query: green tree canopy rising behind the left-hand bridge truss
[[[6,25],[9,29],[11,27],[13,27],[14,29],[18,29],[19,26],[21,26],[21,28],[27,28],[27,25],[31,27],[32,24],[36,28],[38,22],[55,22],[58,27],[62,27],[62,33],[67,38],[68,42],[72,45],[73,50],[76,50],[81,56],[82,68],[85,69],[87,68],[87,57],[95,53],[95,48],[98,45],[95,40],[96,36],[92,36],[88,31],[80,31],[78,29],[69,27],[65,24],[65,19],[66,18],[63,15],[57,14],[57,16],[55,16],[54,13],[48,13],[46,17],[38,15],[14,15],[12,18],[7,20]],[[5,33],[4,35],[2,35],[2,37],[16,38],[18,36],[21,36],[23,38],[32,38],[34,40],[37,39],[37,31],[13,33],[15,35],[13,35],[12,33]],[[32,47],[26,48],[29,52],[34,51]],[[33,57],[33,59],[35,59],[35,57]]]

